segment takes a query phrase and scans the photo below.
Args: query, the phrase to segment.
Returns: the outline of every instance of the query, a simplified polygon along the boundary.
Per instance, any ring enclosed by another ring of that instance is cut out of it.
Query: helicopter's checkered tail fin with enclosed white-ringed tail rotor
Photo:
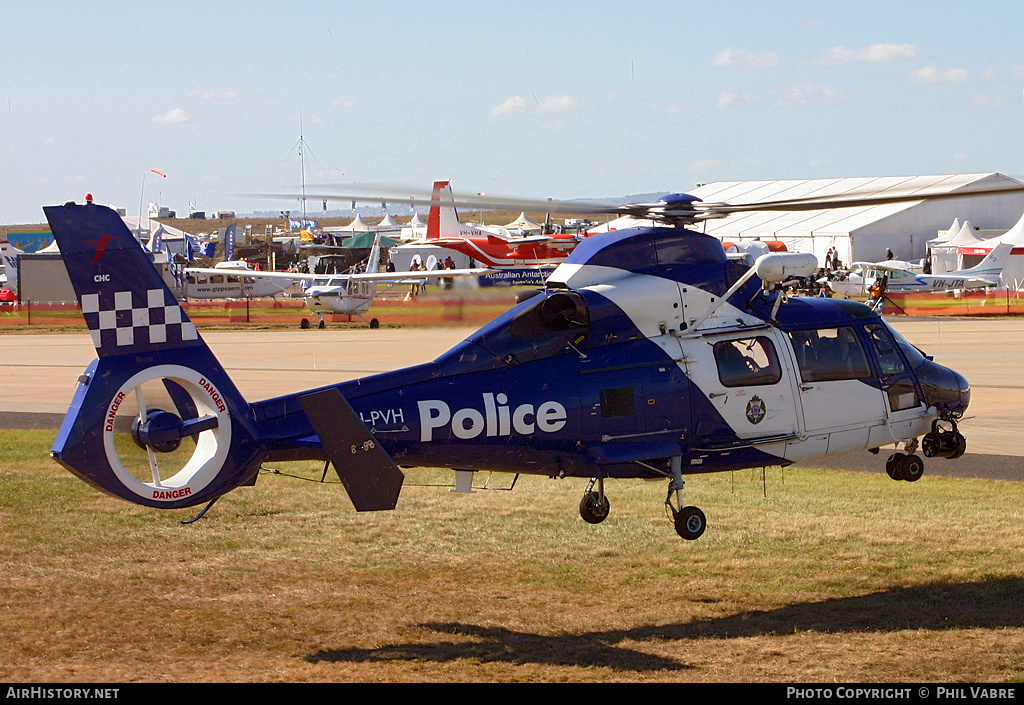
[[[121,217],[93,203],[43,210],[98,356],[50,455],[146,506],[193,506],[253,481],[251,407]]]

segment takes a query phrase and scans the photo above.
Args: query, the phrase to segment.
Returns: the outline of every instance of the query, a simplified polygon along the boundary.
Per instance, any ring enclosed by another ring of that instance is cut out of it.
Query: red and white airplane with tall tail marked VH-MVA
[[[495,269],[554,266],[568,256],[581,237],[585,237],[529,234],[518,229],[477,227],[460,222],[449,181],[434,181],[430,200],[426,242],[462,252]]]

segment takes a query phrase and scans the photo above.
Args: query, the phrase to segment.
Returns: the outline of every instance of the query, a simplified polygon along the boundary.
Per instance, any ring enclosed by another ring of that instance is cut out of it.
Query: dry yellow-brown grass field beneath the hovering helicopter
[[[5,681],[1024,679],[1021,483],[695,476],[684,542],[662,483],[609,483],[590,526],[580,481],[414,470],[359,514],[304,463],[184,526],[51,441],[0,436]]]

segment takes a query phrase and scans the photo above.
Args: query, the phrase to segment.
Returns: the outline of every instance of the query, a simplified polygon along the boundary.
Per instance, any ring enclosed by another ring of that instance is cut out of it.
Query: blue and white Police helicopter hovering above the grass
[[[330,462],[359,511],[396,506],[400,467],[452,468],[457,489],[483,470],[582,479],[593,524],[608,515],[606,481],[663,479],[691,540],[707,521],[684,502],[687,475],[893,446],[889,474],[916,481],[919,449],[963,455],[967,380],[861,303],[788,296],[812,255],[749,266],[686,229],[744,209],[856,204],[575,204],[658,224],[587,238],[536,295],[433,362],[257,402],[117,213],[46,207],[98,356],[51,455],[106,493],[166,508],[208,508],[264,463],[300,459]]]

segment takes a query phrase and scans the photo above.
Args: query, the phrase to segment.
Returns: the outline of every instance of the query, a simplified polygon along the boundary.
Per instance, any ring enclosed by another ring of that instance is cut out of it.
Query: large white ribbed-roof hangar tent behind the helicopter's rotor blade
[[[762,203],[785,199],[906,195],[916,192],[954,194],[958,191],[1022,186],[998,173],[939,176],[881,176],[780,181],[718,181],[689,192],[706,203]],[[922,259],[927,243],[944,235],[954,221],[970,221],[984,238],[1006,233],[1024,213],[1024,191],[906,201],[885,206],[853,206],[809,211],[753,211],[708,220],[694,230],[726,242],[777,240],[791,252],[813,252],[824,262],[835,247],[842,262],[880,261],[891,249],[896,259]],[[958,225],[957,225],[958,227]]]

